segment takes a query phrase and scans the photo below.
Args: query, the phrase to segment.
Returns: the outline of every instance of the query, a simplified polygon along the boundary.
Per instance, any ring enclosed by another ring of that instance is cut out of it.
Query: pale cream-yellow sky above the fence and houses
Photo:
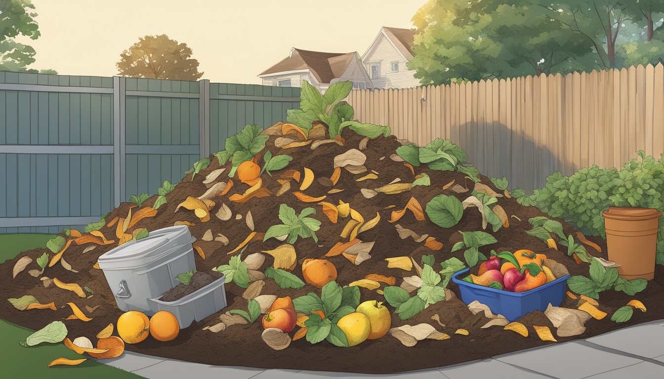
[[[30,68],[112,76],[144,35],[185,42],[211,82],[260,84],[291,47],[362,55],[380,27],[412,28],[426,0],[32,0],[41,37]]]

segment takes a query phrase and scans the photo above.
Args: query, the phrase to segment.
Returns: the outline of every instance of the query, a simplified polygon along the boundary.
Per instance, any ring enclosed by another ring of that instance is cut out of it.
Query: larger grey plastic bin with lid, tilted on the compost
[[[196,268],[191,246],[195,240],[187,226],[170,226],[102,254],[99,267],[118,308],[151,315],[148,300],[178,285],[177,275]]]

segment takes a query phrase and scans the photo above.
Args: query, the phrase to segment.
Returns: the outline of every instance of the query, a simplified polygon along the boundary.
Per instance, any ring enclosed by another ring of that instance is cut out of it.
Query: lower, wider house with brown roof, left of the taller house
[[[306,80],[324,93],[330,84],[351,81],[355,88],[373,84],[357,52],[318,52],[291,48],[290,54],[260,75],[264,86],[300,87]]]

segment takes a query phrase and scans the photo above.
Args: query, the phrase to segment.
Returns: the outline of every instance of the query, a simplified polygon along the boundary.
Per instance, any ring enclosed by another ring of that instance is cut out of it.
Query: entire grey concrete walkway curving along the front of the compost
[[[664,378],[664,320],[653,321],[586,340],[522,350],[485,360],[411,371],[371,375],[345,372],[274,370],[208,366],[126,352],[105,364],[153,379],[164,378]]]

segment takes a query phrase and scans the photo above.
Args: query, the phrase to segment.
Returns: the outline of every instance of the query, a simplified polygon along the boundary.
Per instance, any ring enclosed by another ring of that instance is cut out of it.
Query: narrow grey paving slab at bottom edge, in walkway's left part
[[[152,366],[133,371],[134,374],[148,379],[164,378],[233,378],[249,379],[263,372],[263,368],[239,366],[209,366],[207,364],[185,362],[182,360],[164,360]]]

